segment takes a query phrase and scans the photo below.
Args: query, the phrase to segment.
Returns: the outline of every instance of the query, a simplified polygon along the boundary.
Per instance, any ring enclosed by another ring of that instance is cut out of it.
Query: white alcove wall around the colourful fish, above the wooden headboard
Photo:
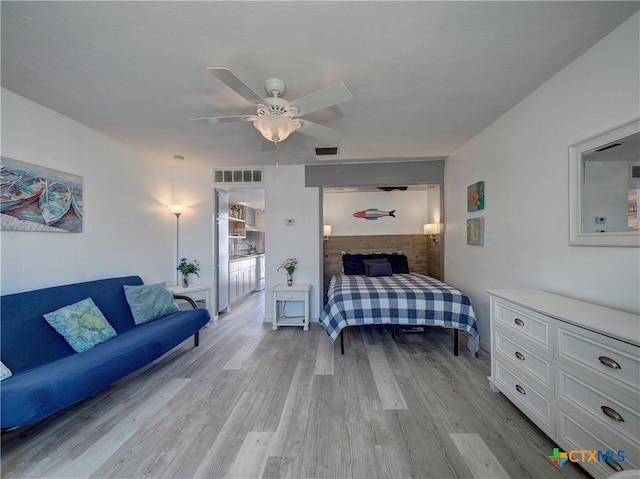
[[[370,208],[395,210],[395,217],[377,220],[355,218],[353,213]],[[324,193],[324,224],[333,236],[422,234],[427,222],[427,190]]]

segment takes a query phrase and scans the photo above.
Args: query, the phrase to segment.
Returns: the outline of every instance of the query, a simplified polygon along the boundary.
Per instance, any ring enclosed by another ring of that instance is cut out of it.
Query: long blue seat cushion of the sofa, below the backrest
[[[14,374],[2,381],[1,426],[30,424],[90,397],[170,351],[208,321],[206,309],[181,311],[136,326],[81,355]]]

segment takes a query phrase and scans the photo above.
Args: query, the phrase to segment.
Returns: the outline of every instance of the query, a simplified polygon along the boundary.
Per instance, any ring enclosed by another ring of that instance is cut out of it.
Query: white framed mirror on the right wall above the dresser
[[[569,231],[575,246],[640,247],[640,119],[569,147]]]

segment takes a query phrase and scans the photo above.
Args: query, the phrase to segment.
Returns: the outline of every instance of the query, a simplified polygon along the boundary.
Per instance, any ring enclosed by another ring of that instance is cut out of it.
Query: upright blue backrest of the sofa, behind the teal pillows
[[[77,354],[43,315],[66,304],[92,298],[118,334],[136,327],[122,286],[140,285],[139,276],[101,279],[2,296],[0,350],[14,376],[22,371]],[[11,318],[11,320],[5,320]],[[5,382],[3,381],[3,386]]]

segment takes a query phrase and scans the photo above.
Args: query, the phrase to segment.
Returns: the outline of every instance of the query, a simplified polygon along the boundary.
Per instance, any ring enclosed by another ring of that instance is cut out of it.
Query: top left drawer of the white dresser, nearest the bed
[[[496,326],[553,355],[551,318],[501,299],[494,299]]]

